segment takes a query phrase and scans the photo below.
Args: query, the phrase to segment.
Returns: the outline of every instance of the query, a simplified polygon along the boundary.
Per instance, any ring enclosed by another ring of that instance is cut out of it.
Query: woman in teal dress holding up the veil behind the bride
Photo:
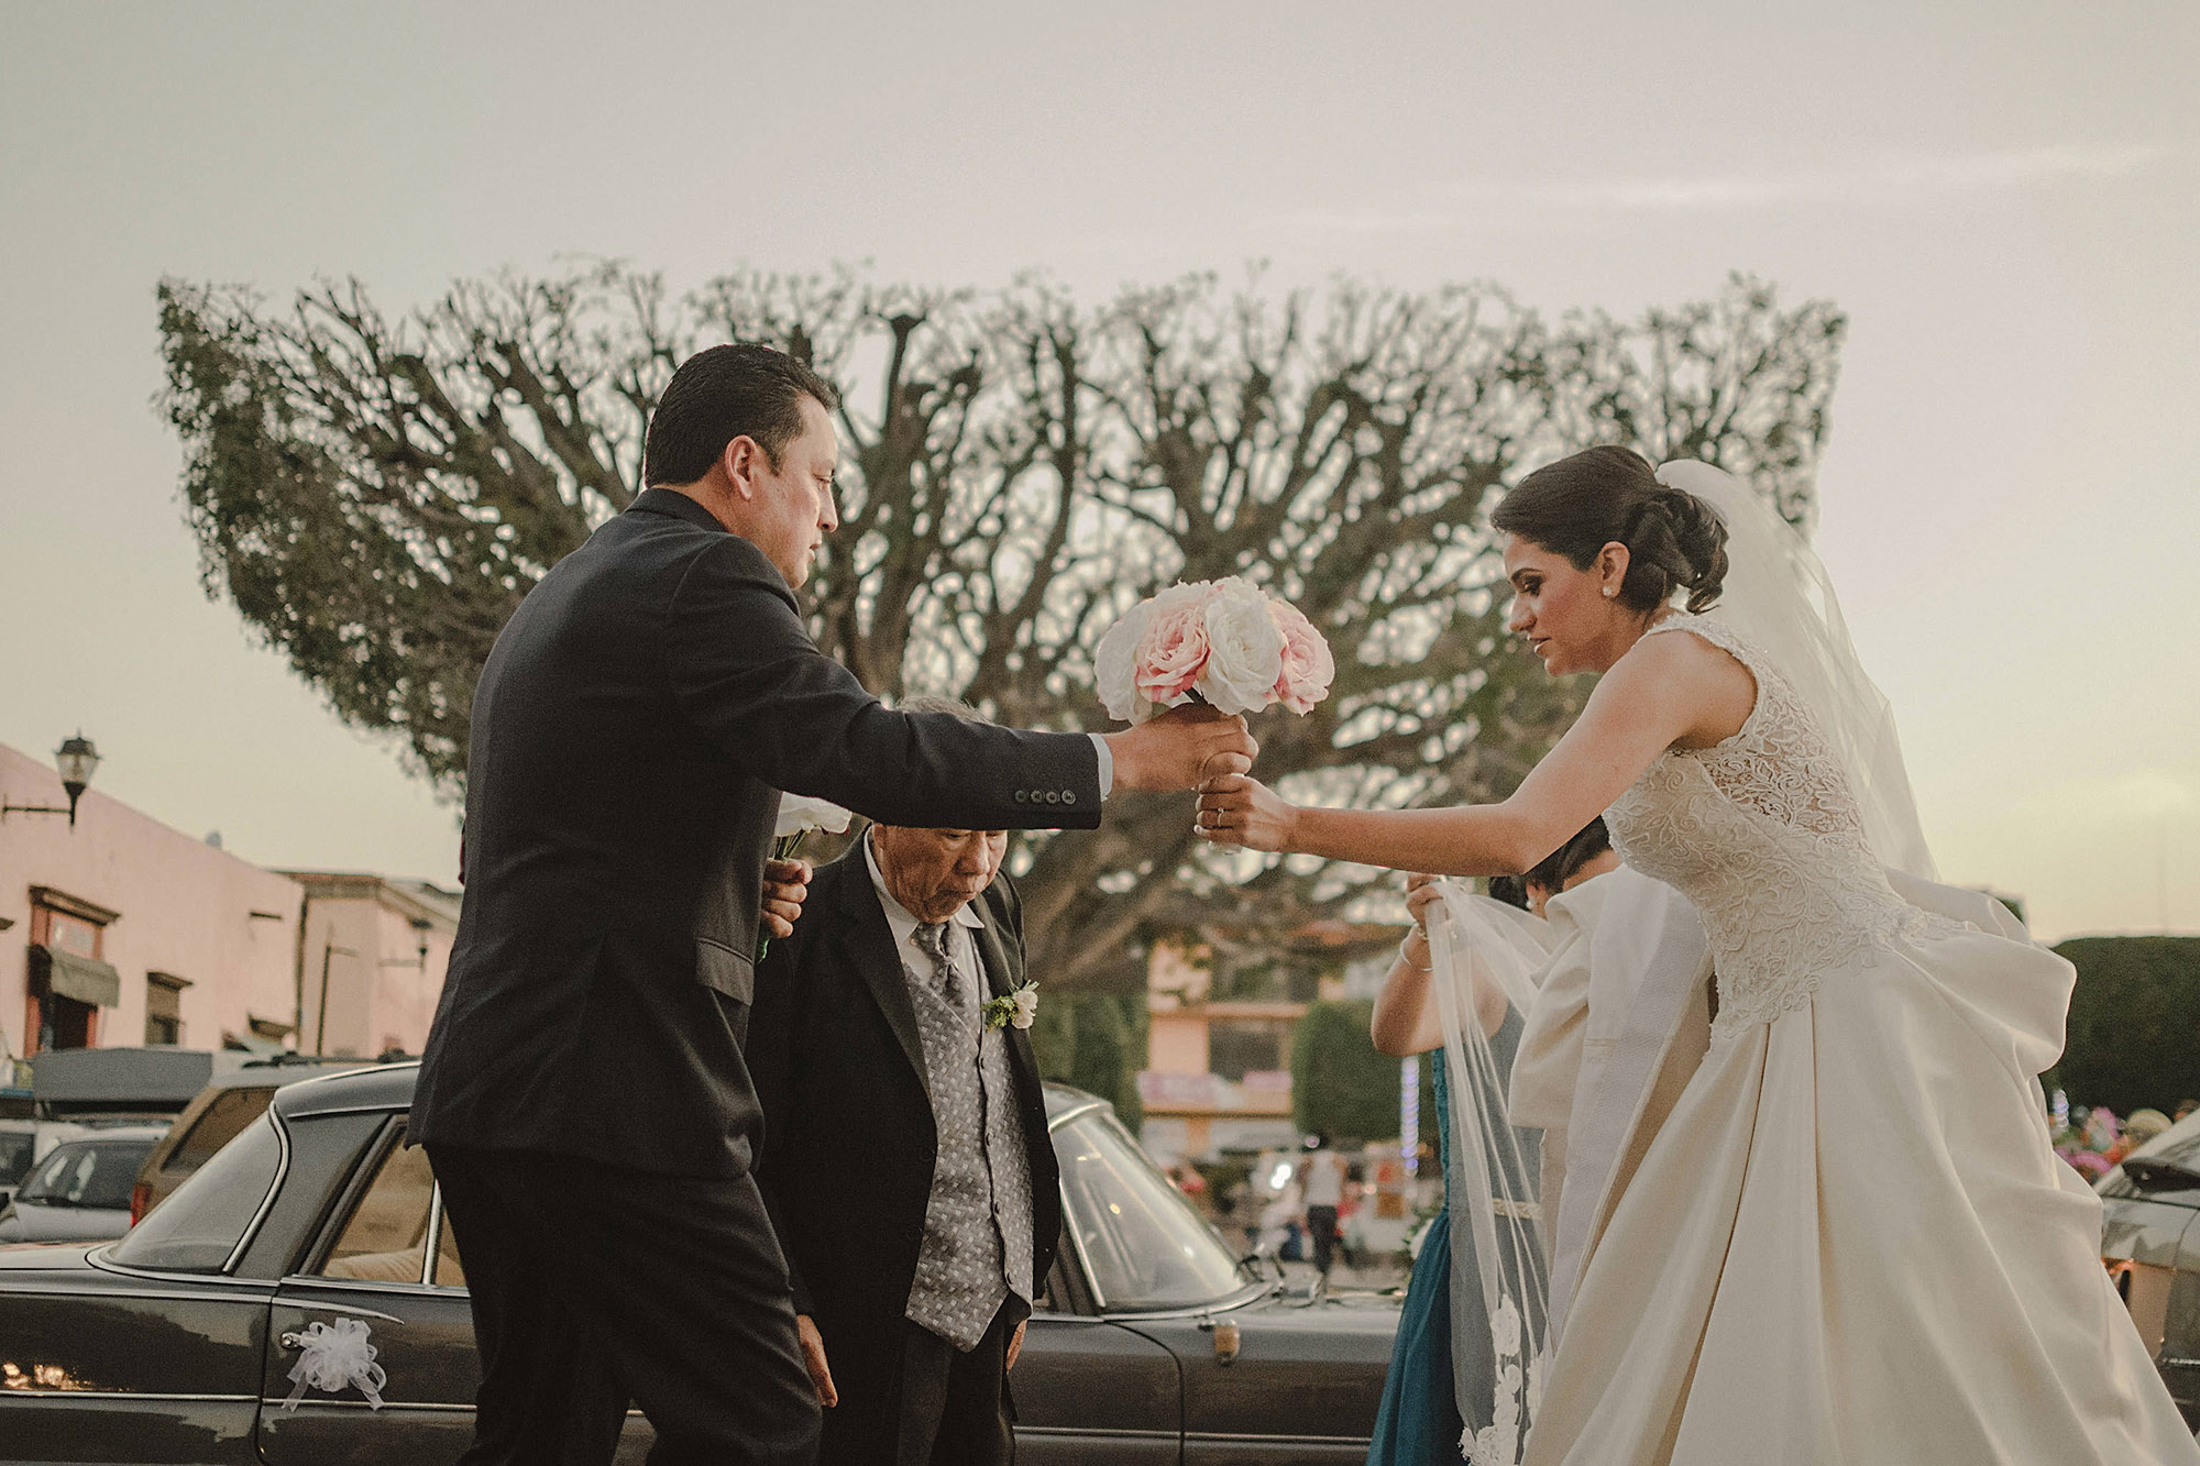
[[[1481,1446],[1503,1455],[1511,1420],[1516,1444],[1518,1404],[1525,1404],[1527,1382],[1536,1369],[1542,1341],[1538,1316],[1547,1292],[1542,1252],[1536,1228],[1538,1134],[1516,1129],[1505,1114],[1505,1087],[1514,1054],[1527,1021],[1525,997],[1553,947],[1553,931],[1542,920],[1544,902],[1617,865],[1595,819],[1558,847],[1525,880],[1494,876],[1489,896],[1470,896],[1434,876],[1412,876],[1406,885],[1406,907],[1412,929],[1399,942],[1397,960],[1375,999],[1371,1039],[1393,1059],[1437,1052],[1432,1070],[1437,1112],[1437,1158],[1443,1175],[1443,1208],[1430,1219],[1421,1252],[1412,1263],[1406,1303],[1399,1316],[1390,1371],[1384,1378],[1382,1407],[1368,1444],[1368,1466],[1428,1466],[1430,1462],[1472,1459]],[[1509,887],[1507,887],[1509,880]],[[1461,920],[1448,907],[1463,909]],[[1432,927],[1441,927],[1432,936]],[[1472,933],[1472,936],[1470,936]],[[1443,940],[1450,962],[1437,962]],[[1439,971],[1441,969],[1441,971]],[[1454,1032],[1456,1026],[1456,1032]],[[1452,1096],[1461,1094],[1454,1120]],[[1461,1180],[1461,1202],[1452,1204],[1454,1173],[1470,1171],[1467,1158],[1454,1151],[1454,1136],[1472,1136],[1481,1149],[1483,1171],[1494,1178],[1489,1226],[1470,1215],[1472,1182]],[[1503,1206],[1498,1202],[1505,1202]],[[1503,1217],[1503,1226],[1498,1219]],[[1485,1286],[1478,1233],[1496,1239],[1494,1286]],[[1492,1327],[1489,1297],[1511,1292],[1520,1314],[1520,1347],[1514,1358],[1498,1354],[1498,1327]],[[1498,1404],[1505,1363],[1514,1380],[1516,1404]],[[1516,1459],[1503,1455],[1503,1459]]]

